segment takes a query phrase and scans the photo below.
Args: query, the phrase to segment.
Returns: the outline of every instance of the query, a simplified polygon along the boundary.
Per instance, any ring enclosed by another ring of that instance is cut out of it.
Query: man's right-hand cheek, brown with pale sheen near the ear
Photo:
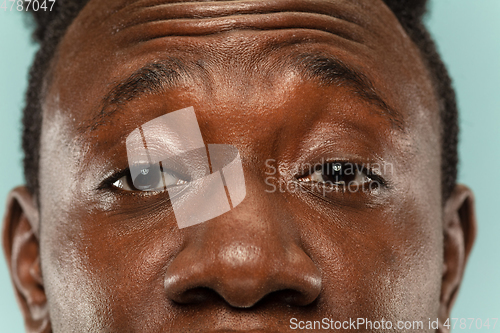
[[[442,270],[438,208],[396,198],[374,209],[316,205],[307,213],[304,241],[321,267],[319,306],[326,313],[424,322],[437,314]]]

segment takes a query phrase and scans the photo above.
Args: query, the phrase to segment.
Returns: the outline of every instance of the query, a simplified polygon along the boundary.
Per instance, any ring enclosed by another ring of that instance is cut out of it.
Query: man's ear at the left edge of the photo
[[[26,332],[50,332],[40,267],[38,209],[26,187],[17,187],[9,193],[2,241]]]

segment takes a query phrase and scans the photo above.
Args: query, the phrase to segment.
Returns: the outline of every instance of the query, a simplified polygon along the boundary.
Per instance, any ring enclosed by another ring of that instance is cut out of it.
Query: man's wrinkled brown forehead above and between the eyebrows
[[[182,88],[192,95],[221,103],[259,96],[266,94],[266,80],[293,77],[286,59],[304,54],[328,54],[347,64],[414,133],[438,133],[427,70],[381,0],[90,1],[59,47],[45,119],[71,119],[72,135],[78,136],[102,116],[115,85],[167,59],[191,69]],[[284,84],[273,89],[283,90]],[[219,95],[207,94],[213,87]],[[140,85],[134,89],[132,95],[140,95]],[[52,117],[55,113],[62,117]],[[150,120],[138,112],[127,117],[134,124]]]

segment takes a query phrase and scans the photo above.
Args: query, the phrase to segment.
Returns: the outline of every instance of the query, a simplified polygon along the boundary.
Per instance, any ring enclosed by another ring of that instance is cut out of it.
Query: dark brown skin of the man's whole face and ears
[[[53,62],[39,197],[14,189],[3,229],[27,332],[285,332],[290,318],[443,323],[476,233],[473,196],[457,185],[441,198],[436,96],[382,1],[141,8],[167,3],[149,2],[90,1]],[[363,73],[396,115],[283,60],[305,53]],[[189,75],[102,116],[114,83],[172,57]],[[165,192],[125,191],[112,176],[127,168],[132,130],[189,106],[205,143],[238,148],[247,196],[179,229]],[[265,191],[266,160],[297,183],[307,178],[297,166],[322,158],[393,172],[371,192]]]

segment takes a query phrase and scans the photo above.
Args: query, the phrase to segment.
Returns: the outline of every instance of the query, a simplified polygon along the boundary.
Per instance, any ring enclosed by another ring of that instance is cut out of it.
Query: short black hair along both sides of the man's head
[[[40,48],[29,73],[29,85],[23,111],[24,176],[33,194],[39,190],[40,135],[44,82],[51,60],[67,28],[88,0],[58,0],[52,11],[31,12],[34,19],[33,39]],[[442,198],[447,199],[455,187],[458,165],[458,111],[455,92],[436,45],[423,24],[427,0],[384,0],[420,50],[433,81],[439,102],[441,121]]]

